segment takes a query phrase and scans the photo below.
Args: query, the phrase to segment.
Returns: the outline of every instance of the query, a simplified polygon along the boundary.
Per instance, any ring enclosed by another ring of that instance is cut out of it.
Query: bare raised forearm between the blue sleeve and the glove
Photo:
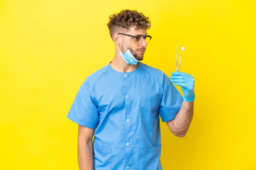
[[[179,113],[177,113],[175,119],[166,122],[169,129],[175,136],[184,137],[189,130],[189,125],[193,118],[194,101],[185,102],[180,108]]]

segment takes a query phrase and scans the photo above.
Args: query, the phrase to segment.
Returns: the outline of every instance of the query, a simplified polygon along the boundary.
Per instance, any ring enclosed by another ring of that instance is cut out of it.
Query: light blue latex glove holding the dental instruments
[[[170,81],[175,85],[181,86],[181,90],[184,94],[183,99],[186,102],[192,102],[195,99],[194,77],[180,71],[171,73],[171,75],[172,76],[169,77],[171,79]]]

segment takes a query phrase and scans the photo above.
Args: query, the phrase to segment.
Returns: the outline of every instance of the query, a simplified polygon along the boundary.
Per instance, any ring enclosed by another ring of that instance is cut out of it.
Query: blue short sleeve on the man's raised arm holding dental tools
[[[174,119],[180,111],[183,103],[183,97],[172,84],[169,77],[164,74],[163,80],[163,96],[160,102],[159,115],[163,122],[168,122]]]

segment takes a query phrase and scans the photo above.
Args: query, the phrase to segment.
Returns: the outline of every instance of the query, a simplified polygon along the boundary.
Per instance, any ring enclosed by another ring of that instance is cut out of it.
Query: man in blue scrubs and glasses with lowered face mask
[[[142,13],[113,14],[108,28],[114,58],[87,77],[67,115],[79,124],[79,168],[162,170],[160,117],[175,136],[185,136],[193,116],[194,78],[182,72],[167,77],[140,62],[151,40],[150,21]]]

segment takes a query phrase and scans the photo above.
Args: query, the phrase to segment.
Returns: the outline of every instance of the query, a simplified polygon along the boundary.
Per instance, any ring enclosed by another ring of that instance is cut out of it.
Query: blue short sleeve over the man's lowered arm
[[[96,128],[99,122],[98,108],[93,102],[86,82],[81,85],[67,118],[81,126]]]

